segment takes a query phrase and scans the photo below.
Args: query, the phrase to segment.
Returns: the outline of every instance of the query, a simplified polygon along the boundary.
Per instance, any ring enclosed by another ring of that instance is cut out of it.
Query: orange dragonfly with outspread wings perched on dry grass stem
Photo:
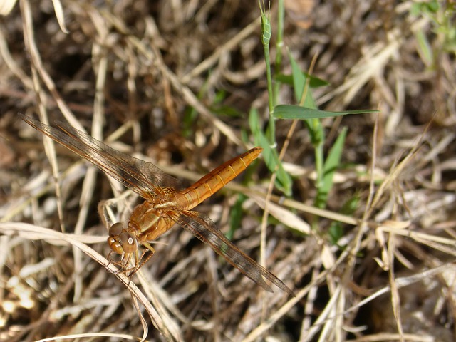
[[[126,226],[117,222],[108,229],[111,253],[120,254],[123,269],[127,269],[132,258],[135,258],[135,266],[130,276],[155,253],[155,249],[149,242],[160,237],[177,223],[202,242],[209,244],[214,252],[224,257],[266,291],[272,292],[264,278],[294,296],[293,291],[280,279],[259,265],[257,261],[247,257],[230,242],[212,219],[191,210],[244,171],[259,156],[261,147],[254,147],[224,162],[194,185],[180,190],[182,187],[179,180],[167,175],[151,162],[114,150],[66,123],[56,121],[57,127],[54,128],[23,114],[19,114],[19,117],[145,199],[145,202],[133,209]],[[146,247],[146,252],[147,250],[151,252],[143,261],[141,259],[144,253],[139,257],[138,245]]]

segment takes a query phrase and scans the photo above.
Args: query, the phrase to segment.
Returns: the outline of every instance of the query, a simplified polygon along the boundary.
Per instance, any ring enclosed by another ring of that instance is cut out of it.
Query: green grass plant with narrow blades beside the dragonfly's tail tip
[[[252,109],[249,114],[249,124],[254,135],[255,143],[264,148],[264,160],[271,172],[276,175],[276,187],[278,187],[285,195],[291,195],[291,177],[284,170],[277,150],[275,140],[275,122],[276,120],[304,120],[306,128],[311,137],[311,143],[314,147],[315,162],[316,162],[316,188],[317,196],[315,200],[316,207],[326,207],[328,193],[333,185],[333,175],[338,169],[341,162],[341,154],[346,138],[346,128],[343,128],[336,139],[333,147],[325,155],[324,142],[326,139],[325,131],[321,125],[321,118],[336,117],[347,114],[374,113],[376,110],[350,110],[343,112],[329,112],[320,110],[316,106],[316,102],[312,95],[312,88],[326,86],[326,81],[309,75],[301,71],[294,58],[289,54],[291,63],[291,75],[283,75],[280,73],[283,46],[283,21],[284,9],[283,1],[279,1],[279,18],[277,25],[277,40],[276,40],[276,75],[271,73],[271,62],[269,56],[269,43],[271,41],[272,28],[269,14],[266,15],[264,4],[260,4],[261,9],[261,42],[264,47],[264,59],[266,62],[266,78],[267,89],[269,95],[269,123],[266,132],[261,127],[257,110]],[[273,86],[274,81],[274,86]],[[280,105],[277,100],[279,87],[286,85],[291,86],[294,90],[294,96],[297,105]],[[294,127],[294,125],[292,125]],[[290,134],[293,134],[291,128]]]

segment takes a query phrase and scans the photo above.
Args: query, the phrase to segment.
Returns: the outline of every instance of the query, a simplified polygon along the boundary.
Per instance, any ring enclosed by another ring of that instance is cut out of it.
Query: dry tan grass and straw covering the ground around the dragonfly
[[[63,15],[53,2],[19,1],[0,22],[1,341],[455,341],[455,51],[429,16],[411,1],[286,1],[282,72],[286,49],[304,71],[317,56],[320,108],[379,114],[321,121],[325,151],[348,127],[326,209],[300,121],[284,154],[293,195],[266,221],[261,160],[198,210],[228,232],[247,195],[233,241],[291,298],[177,227],[131,283],[113,274],[97,205],[115,198],[125,217],[138,199],[64,147],[45,152],[16,116],[68,120],[188,185],[253,146],[251,108],[267,121],[257,2],[64,0]],[[279,98],[295,103],[289,86]],[[290,126],[277,121],[279,149]]]

